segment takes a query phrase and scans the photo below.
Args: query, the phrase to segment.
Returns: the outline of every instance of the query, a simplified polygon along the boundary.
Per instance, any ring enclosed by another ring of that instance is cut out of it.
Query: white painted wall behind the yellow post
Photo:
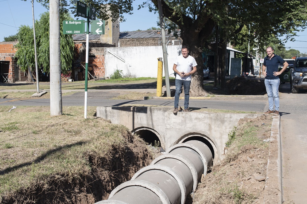
[[[173,65],[177,56],[181,55],[182,45],[167,46],[169,76],[174,77]],[[113,54],[119,58],[115,57]],[[157,78],[158,57],[163,58],[162,46],[138,47],[108,47],[105,49],[105,72],[110,77],[116,69],[122,70],[125,77],[154,77]],[[163,59],[164,61],[164,59]],[[164,76],[163,63],[163,76]],[[172,74],[172,75],[170,75]]]

